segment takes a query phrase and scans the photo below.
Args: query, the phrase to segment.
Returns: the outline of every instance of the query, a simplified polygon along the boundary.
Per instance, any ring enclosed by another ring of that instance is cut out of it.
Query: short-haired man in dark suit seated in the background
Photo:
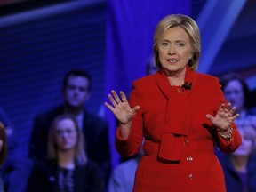
[[[52,119],[61,114],[71,114],[76,116],[79,128],[84,133],[88,157],[100,165],[103,170],[101,173],[107,180],[111,170],[108,124],[107,121],[85,109],[85,104],[90,99],[91,88],[92,77],[87,72],[84,70],[68,72],[62,84],[64,103],[37,115],[34,119],[29,154],[33,160],[44,159],[48,129]]]

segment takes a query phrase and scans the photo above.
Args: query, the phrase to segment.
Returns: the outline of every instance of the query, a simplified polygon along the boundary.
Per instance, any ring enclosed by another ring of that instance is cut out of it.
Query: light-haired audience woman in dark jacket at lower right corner
[[[239,129],[242,145],[233,154],[219,154],[227,192],[256,191],[256,132],[251,126]]]

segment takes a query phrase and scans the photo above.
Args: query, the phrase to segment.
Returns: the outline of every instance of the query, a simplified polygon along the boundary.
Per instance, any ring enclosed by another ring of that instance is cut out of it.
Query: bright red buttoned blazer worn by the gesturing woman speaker
[[[233,124],[233,140],[223,140],[206,117],[215,116],[226,102],[218,79],[187,68],[185,81],[192,83],[190,90],[171,86],[162,69],[132,84],[130,105],[140,110],[127,140],[117,129],[116,149],[121,156],[133,156],[145,139],[135,192],[225,191],[215,144],[230,153],[241,137]]]

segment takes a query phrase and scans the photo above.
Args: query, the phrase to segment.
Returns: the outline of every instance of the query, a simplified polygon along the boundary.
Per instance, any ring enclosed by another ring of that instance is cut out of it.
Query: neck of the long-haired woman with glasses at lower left
[[[75,168],[75,151],[58,151],[58,164],[62,168],[74,169]]]

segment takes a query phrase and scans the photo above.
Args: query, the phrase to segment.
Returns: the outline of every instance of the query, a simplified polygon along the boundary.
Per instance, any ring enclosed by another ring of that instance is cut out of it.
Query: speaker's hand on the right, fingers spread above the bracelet
[[[218,113],[215,117],[207,114],[206,117],[212,122],[212,124],[217,127],[221,132],[226,132],[230,127],[230,124],[239,116],[239,114],[234,115],[236,107],[229,110],[231,103],[225,105],[224,103],[220,105]]]

